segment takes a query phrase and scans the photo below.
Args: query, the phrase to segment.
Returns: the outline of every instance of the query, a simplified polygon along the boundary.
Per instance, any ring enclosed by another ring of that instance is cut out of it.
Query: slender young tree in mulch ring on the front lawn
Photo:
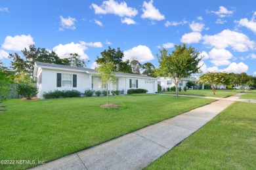
[[[114,63],[107,62],[107,63],[100,63],[96,68],[96,75],[101,76],[101,80],[104,84],[106,84],[107,90],[107,107],[108,107],[108,84],[110,82],[115,82],[116,78],[114,77]]]

